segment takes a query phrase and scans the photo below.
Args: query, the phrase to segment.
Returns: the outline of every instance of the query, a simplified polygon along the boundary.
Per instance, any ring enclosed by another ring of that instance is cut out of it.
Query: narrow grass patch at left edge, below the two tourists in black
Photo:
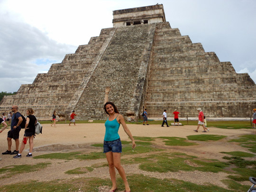
[[[51,163],[39,163],[36,165],[9,165],[9,166],[0,168],[0,174],[4,175],[0,178],[10,177],[10,176],[13,176],[14,174],[34,172],[39,169],[43,169],[50,164]]]

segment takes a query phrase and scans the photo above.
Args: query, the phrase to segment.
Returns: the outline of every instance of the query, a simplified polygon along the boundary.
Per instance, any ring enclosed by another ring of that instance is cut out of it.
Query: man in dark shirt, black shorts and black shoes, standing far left
[[[11,118],[11,130],[8,131],[8,135],[7,135],[7,142],[8,142],[8,150],[6,152],[3,152],[3,155],[15,155],[18,154],[18,146],[19,146],[19,131],[21,129],[21,127],[19,126],[22,122],[22,117],[20,115],[20,113],[18,112],[18,106],[14,105],[11,108],[11,111],[13,112],[12,118]],[[16,149],[11,152],[11,145],[12,145],[12,140],[15,140],[15,144],[16,144]]]

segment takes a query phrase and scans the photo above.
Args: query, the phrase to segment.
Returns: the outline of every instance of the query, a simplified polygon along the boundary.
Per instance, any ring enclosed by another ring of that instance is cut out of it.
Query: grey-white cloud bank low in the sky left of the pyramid
[[[32,83],[37,73],[48,71],[52,63],[61,62],[77,48],[8,15],[0,15],[0,29],[0,91],[18,91],[21,84]]]

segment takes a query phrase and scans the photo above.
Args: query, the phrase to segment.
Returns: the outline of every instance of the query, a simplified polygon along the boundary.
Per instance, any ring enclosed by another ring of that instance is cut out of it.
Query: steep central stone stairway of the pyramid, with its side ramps
[[[121,114],[126,116],[129,110],[138,116],[154,33],[155,24],[116,29],[75,107],[81,119],[106,119],[107,86],[111,88],[109,101]]]

